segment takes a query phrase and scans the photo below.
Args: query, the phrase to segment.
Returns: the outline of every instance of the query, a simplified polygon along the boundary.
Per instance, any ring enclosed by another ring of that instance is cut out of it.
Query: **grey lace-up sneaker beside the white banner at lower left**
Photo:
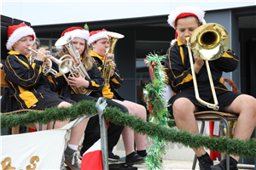
[[[72,170],[80,170],[79,162],[78,162],[78,156],[79,156],[78,150],[73,150],[67,146],[67,149],[65,150],[64,155],[65,155],[65,163],[69,168],[71,168]]]

